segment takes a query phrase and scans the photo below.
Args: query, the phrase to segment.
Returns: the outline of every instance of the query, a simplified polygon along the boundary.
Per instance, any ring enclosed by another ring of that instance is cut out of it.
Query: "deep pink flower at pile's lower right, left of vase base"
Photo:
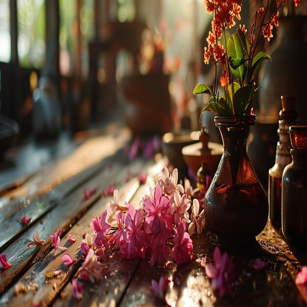
[[[185,222],[178,222],[177,229],[174,228],[174,232],[174,259],[178,265],[187,263],[191,260],[193,244],[189,234],[185,232]]]

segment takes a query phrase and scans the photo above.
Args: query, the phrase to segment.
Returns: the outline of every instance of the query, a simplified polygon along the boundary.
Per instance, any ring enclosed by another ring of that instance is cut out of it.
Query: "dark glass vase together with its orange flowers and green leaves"
[[[299,5],[299,0],[294,1]],[[203,112],[217,114],[214,121],[223,138],[224,153],[205,195],[205,220],[207,229],[228,244],[255,242],[268,218],[268,199],[247,156],[246,142],[256,120],[252,104],[258,88],[254,76],[263,61],[272,60],[263,51],[256,53],[256,47],[263,37],[273,37],[284,4],[285,0],[277,0],[274,13],[268,17],[267,1],[266,7],[255,13],[248,37],[247,29],[240,25],[226,41],[226,29],[235,26],[235,18],[240,20],[242,1],[205,0],[206,11],[214,17],[204,62],[212,60],[215,65],[215,81],[210,86],[198,84],[193,94],[211,96]],[[223,71],[220,79],[219,65]]]

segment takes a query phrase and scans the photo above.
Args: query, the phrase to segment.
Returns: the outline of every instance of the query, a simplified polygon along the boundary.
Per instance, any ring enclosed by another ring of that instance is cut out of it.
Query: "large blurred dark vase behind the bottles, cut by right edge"
[[[307,124],[307,28],[306,16],[279,19],[277,39],[268,49],[272,57],[259,72],[260,121],[277,123],[281,95],[300,97],[296,103],[298,122]]]

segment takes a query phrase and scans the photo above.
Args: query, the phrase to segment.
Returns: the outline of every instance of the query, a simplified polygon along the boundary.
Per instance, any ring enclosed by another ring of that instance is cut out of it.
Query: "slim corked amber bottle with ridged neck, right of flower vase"
[[[289,127],[295,125],[298,113],[295,97],[281,96],[282,110],[279,121],[279,142],[276,148],[275,165],[269,170],[269,219],[276,229],[281,228],[281,178],[286,165],[291,163]]]

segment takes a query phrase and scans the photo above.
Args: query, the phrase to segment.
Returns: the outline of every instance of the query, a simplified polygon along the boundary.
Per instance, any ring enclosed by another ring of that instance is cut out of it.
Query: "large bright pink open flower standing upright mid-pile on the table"
[[[165,227],[172,229],[173,218],[170,200],[166,196],[162,196],[162,190],[158,184],[155,186],[153,198],[147,198],[144,201],[144,209],[147,212],[145,230],[157,235]]]

